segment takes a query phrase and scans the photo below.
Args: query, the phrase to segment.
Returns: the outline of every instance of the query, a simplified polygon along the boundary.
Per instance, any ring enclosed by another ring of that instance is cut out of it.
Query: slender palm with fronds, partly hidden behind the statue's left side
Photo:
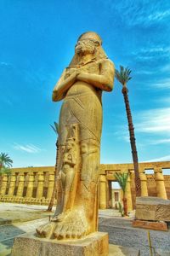
[[[55,199],[55,195],[56,192],[59,195],[59,172],[58,172],[58,161],[59,161],[59,140],[58,140],[58,135],[59,135],[59,125],[58,123],[54,122],[54,126],[50,125],[52,127],[52,129],[54,130],[55,134],[57,135],[57,140],[56,140],[56,161],[55,161],[55,171],[54,171],[54,189],[53,189],[53,193],[51,196],[51,200],[49,202],[48,205],[48,212],[52,211],[52,208],[54,206],[54,199]],[[59,201],[59,198],[58,198]]]

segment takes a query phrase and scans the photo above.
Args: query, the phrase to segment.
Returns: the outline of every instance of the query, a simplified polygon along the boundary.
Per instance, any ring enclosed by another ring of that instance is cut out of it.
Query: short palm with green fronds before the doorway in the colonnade
[[[122,202],[123,202],[123,208],[124,208],[124,215],[127,216],[127,198],[126,198],[126,188],[127,188],[127,178],[128,178],[128,172],[122,172],[122,173],[115,173],[116,181],[119,183],[121,189],[122,189]]]

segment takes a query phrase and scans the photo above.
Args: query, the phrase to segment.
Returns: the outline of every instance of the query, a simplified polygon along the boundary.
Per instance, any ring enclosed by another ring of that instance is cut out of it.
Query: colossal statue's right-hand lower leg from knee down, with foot
[[[77,195],[71,212],[56,226],[58,239],[79,238],[96,231],[98,219],[99,145],[94,140],[82,142],[82,168]]]

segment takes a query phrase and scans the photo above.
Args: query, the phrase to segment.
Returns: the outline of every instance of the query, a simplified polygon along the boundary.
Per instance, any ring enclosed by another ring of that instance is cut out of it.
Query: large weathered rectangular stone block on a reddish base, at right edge
[[[170,221],[170,200],[152,196],[137,197],[135,218]]]

